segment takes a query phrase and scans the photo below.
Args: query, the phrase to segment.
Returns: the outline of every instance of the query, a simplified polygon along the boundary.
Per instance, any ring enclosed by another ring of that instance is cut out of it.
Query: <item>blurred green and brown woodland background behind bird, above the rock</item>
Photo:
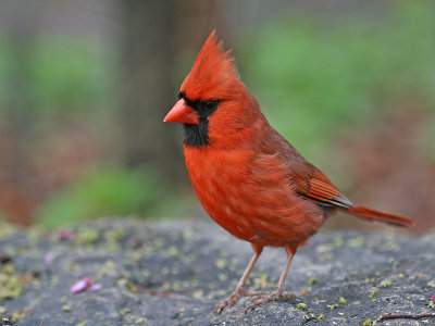
[[[0,3],[0,218],[203,217],[163,124],[213,28],[349,198],[435,226],[435,11],[414,1]],[[330,227],[365,227],[335,218]]]

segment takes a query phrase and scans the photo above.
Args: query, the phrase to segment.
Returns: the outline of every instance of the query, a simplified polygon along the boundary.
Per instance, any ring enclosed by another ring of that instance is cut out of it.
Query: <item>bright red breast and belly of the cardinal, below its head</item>
[[[249,149],[184,152],[202,206],[235,237],[277,247],[307,240],[323,223],[316,205],[295,195],[274,158],[256,161]]]

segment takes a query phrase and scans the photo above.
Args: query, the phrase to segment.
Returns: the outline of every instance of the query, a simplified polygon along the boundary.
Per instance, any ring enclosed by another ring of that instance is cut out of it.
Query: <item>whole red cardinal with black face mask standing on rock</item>
[[[351,203],[269,125],[233,61],[213,30],[164,118],[184,124],[186,166],[202,206],[224,229],[250,242],[254,252],[235,291],[216,311],[240,296],[256,297],[250,308],[288,296],[283,285],[298,247],[337,211],[413,225]],[[279,281],[270,293],[247,291],[245,283],[266,246],[287,252]]]

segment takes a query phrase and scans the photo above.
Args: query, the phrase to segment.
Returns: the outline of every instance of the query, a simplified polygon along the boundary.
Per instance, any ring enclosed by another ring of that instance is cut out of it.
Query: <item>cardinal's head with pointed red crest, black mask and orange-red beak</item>
[[[185,145],[204,147],[234,138],[259,112],[256,99],[239,79],[231,50],[224,50],[213,30],[164,122],[183,123]]]

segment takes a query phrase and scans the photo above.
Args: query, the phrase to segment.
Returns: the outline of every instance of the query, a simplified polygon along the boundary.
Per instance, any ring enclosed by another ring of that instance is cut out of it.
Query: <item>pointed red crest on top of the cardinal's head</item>
[[[190,73],[183,82],[181,91],[192,100],[231,97],[234,93],[232,88],[235,83],[239,83],[231,52],[231,50],[224,50],[223,41],[217,41],[216,33],[213,30],[202,46]]]

